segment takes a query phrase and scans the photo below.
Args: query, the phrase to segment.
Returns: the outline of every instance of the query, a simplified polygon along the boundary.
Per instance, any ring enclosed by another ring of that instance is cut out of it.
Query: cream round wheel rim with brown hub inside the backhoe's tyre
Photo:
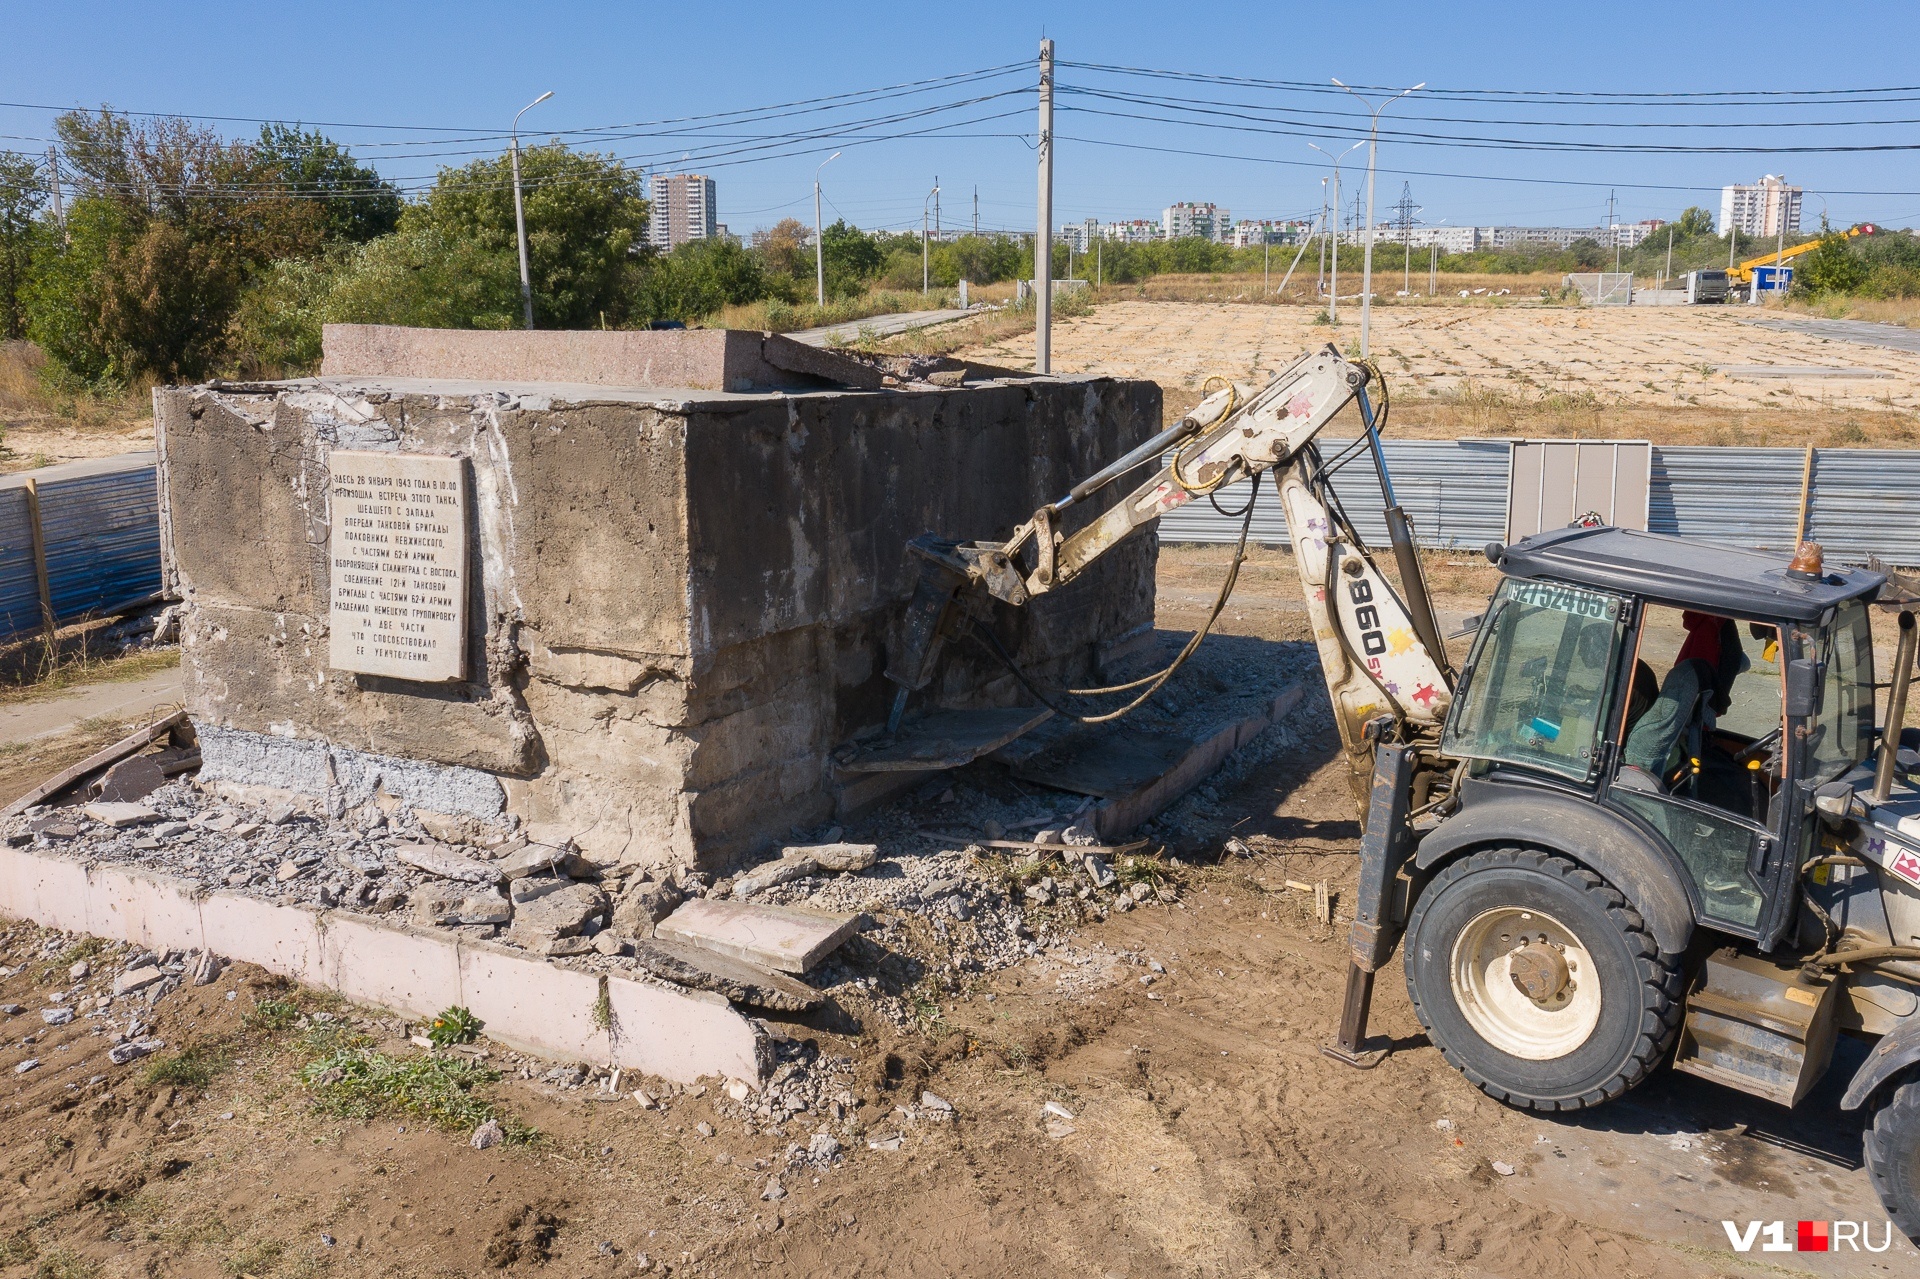
[[[1448,979],[1467,1024],[1509,1056],[1530,1062],[1567,1056],[1599,1026],[1599,972],[1592,953],[1571,928],[1540,910],[1500,906],[1476,916],[1453,941]]]

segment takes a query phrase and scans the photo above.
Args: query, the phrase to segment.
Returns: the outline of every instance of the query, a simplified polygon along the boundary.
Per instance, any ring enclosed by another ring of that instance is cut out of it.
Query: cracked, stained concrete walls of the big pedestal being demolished
[[[881,672],[912,591],[904,542],[1004,536],[1158,422],[1158,386],[1114,378],[732,396],[409,378],[157,390],[188,711],[269,745],[490,774],[536,832],[603,860],[724,864],[822,820],[829,751],[885,720]],[[334,447],[468,461],[465,682],[326,666]],[[1156,549],[1140,536],[995,626],[1035,670],[1092,676],[1152,624]],[[929,691],[948,707],[1025,701],[968,651]],[[230,755],[253,782],[276,759]],[[288,753],[290,787],[301,768],[311,751]]]

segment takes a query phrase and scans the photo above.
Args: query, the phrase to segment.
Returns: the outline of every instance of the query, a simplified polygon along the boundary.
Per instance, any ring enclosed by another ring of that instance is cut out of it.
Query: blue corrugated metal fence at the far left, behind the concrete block
[[[159,593],[154,453],[0,476],[0,640],[44,626],[29,486],[38,492],[54,620],[113,613]]]

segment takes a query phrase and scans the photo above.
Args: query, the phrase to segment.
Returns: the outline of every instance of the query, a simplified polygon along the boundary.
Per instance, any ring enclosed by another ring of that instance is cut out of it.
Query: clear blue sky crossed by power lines
[[[513,113],[541,90],[555,98],[526,115],[524,134],[735,111],[1027,63],[1052,36],[1066,61],[1327,84],[1411,84],[1444,90],[1699,92],[1868,88],[1920,84],[1912,50],[1920,6],[1864,0],[1818,19],[1805,4],[1546,6],[1546,4],[977,4],[687,6],[687,4],[12,4],[0,52],[0,98],[17,104],[100,106],[196,115],[330,121],[328,133],[397,179],[430,177],[436,156],[497,150]],[[1235,133],[1248,119],[1208,108],[1212,127],[1121,115],[1160,108],[1071,94],[1069,88],[1192,96],[1267,109],[1323,111],[1323,144],[1352,133],[1352,100],[1271,88],[1183,84],[1089,69],[1060,71],[1056,223],[1079,217],[1158,217],[1173,200],[1213,200],[1235,217],[1317,211],[1319,156],[1306,136]],[[793,144],[781,157],[701,163],[718,182],[720,217],[743,232],[812,217],[812,171],[826,169],[828,219],[918,227],[935,177],[948,223],[1033,227],[1033,94],[1027,69],[887,100],[885,108],[950,104],[948,134],[847,146]],[[1020,92],[1016,92],[1020,90]],[[1004,94],[989,98],[989,94]],[[1379,209],[1411,186],[1427,223],[1597,225],[1609,184],[1622,221],[1718,207],[1722,182],[1786,173],[1809,188],[1809,221],[1920,225],[1920,152],[1793,156],[1640,156],[1582,150],[1590,138],[1657,142],[1920,142],[1920,123],[1847,129],[1572,129],[1572,121],[1713,123],[1920,121],[1914,102],[1828,106],[1559,108],[1534,102],[1459,104],[1415,96],[1392,109],[1405,131],[1473,136],[1551,136],[1574,150],[1517,152],[1380,144]],[[866,108],[877,111],[879,108]],[[991,119],[1006,113],[1002,119]],[[1436,123],[1427,117],[1509,121]],[[1561,125],[1542,129],[1542,123]],[[372,125],[449,127],[420,134]],[[246,123],[223,125],[252,133]],[[791,127],[783,121],[780,127]],[[908,125],[910,127],[910,125]],[[1286,131],[1292,123],[1281,125]],[[893,127],[899,133],[906,127]],[[766,133],[766,125],[735,133]],[[0,148],[44,150],[50,115],[0,108]],[[868,134],[874,129],[866,131]],[[887,133],[881,129],[879,133]],[[603,148],[674,167],[676,152],[712,140],[628,129]],[[1012,136],[1020,134],[1020,136]],[[447,138],[474,138],[451,142]],[[749,146],[730,140],[726,146]],[[1125,146],[1114,146],[1125,144]],[[1332,146],[1342,150],[1346,142]],[[1148,150],[1150,148],[1150,150]],[[1365,152],[1356,154],[1356,161]],[[457,161],[457,159],[455,159]],[[1350,161],[1352,163],[1352,161]],[[1356,173],[1357,169],[1348,169]],[[1405,171],[1419,171],[1409,175]],[[1501,181],[1505,179],[1505,181]],[[1526,181],[1515,181],[1526,179]],[[1653,190],[1709,188],[1709,190]],[[1352,192],[1354,186],[1350,184]],[[1866,192],[1866,194],[1857,194]]]

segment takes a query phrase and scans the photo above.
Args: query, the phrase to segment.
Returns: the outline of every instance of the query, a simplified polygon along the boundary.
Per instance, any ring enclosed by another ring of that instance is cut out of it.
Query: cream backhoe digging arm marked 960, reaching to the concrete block
[[[1188,417],[1035,511],[1006,542],[916,538],[908,549],[920,561],[920,580],[902,643],[887,666],[887,678],[899,686],[889,728],[899,728],[908,695],[931,682],[939,645],[954,628],[964,591],[981,590],[1025,605],[1073,582],[1162,515],[1236,480],[1258,482],[1271,471],[1334,720],[1356,787],[1363,789],[1373,774],[1373,747],[1388,736],[1386,728],[1400,739],[1428,737],[1452,699],[1446,649],[1413,553],[1411,524],[1394,501],[1380,457],[1367,380],[1369,369],[1344,359],[1332,346],[1309,351],[1258,392],[1229,386],[1210,396]],[[1365,436],[1329,463],[1315,440],[1356,399]],[[1379,471],[1405,595],[1380,572],[1329,484],[1338,467],[1361,453],[1371,453]],[[1162,459],[1169,465],[1094,520],[1073,534],[1060,530],[1066,511]]]

